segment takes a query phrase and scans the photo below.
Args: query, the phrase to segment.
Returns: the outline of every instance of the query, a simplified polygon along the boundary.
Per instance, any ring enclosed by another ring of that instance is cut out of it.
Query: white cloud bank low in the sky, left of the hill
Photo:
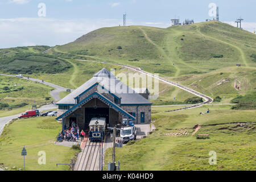
[[[119,26],[121,22],[121,19],[0,19],[0,48],[66,44],[90,31]]]

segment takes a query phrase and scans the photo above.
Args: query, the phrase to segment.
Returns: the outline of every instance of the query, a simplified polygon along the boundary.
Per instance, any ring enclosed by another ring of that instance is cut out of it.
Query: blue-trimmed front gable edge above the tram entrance
[[[94,92],[92,94],[90,94],[90,96],[86,97],[84,100],[80,101],[78,104],[76,104],[75,106],[73,106],[71,109],[69,109],[68,111],[66,111],[65,113],[61,114],[59,117],[56,118],[56,120],[60,119],[60,118],[65,118],[67,117],[69,114],[73,113],[74,111],[76,111],[77,109],[79,109],[81,106],[85,105],[87,102],[89,102],[90,100],[92,100],[93,98],[100,98],[100,100],[102,100],[103,102],[105,102],[105,104],[110,105],[110,107],[116,111],[118,111],[119,113],[122,113],[123,115],[126,115],[128,118],[135,120],[135,118],[133,117],[133,115],[127,113],[127,111],[123,110],[121,107],[119,107],[118,105],[114,104],[112,101],[110,101],[108,98],[102,96],[102,94],[98,93],[98,92]]]

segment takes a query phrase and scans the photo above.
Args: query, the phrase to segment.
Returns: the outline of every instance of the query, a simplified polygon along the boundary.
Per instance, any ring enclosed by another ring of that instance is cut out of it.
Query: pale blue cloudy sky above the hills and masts
[[[236,26],[256,28],[256,1],[244,0],[0,0],[0,48],[18,46],[55,46],[73,42],[101,27],[123,24],[166,28],[170,19],[194,19],[203,22],[214,3],[220,21]]]

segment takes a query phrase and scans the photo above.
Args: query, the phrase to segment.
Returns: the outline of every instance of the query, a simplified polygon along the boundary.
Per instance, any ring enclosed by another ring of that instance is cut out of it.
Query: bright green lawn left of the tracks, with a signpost
[[[9,170],[23,169],[23,156],[20,156],[23,146],[26,147],[26,171],[67,171],[69,167],[57,163],[69,163],[75,156],[75,150],[69,147],[55,145],[61,124],[54,118],[19,119],[5,127],[0,137],[0,167]],[[39,151],[46,152],[46,165],[38,164]],[[13,169],[13,167],[16,167]]]

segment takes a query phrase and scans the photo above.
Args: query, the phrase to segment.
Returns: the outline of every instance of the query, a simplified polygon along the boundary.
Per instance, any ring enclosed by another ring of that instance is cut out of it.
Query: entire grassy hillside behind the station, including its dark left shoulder
[[[100,28],[72,43],[53,47],[47,54],[42,53],[49,48],[46,46],[0,49],[0,72],[23,73],[77,88],[98,69],[117,68],[81,60],[107,61],[159,73],[209,96],[225,96],[224,102],[229,102],[255,89],[255,40],[250,32],[215,21],[169,28]],[[241,90],[234,88],[235,82],[241,82]],[[162,96],[155,102],[157,105],[172,104],[174,97],[181,98],[181,102],[191,97],[160,84]]]

